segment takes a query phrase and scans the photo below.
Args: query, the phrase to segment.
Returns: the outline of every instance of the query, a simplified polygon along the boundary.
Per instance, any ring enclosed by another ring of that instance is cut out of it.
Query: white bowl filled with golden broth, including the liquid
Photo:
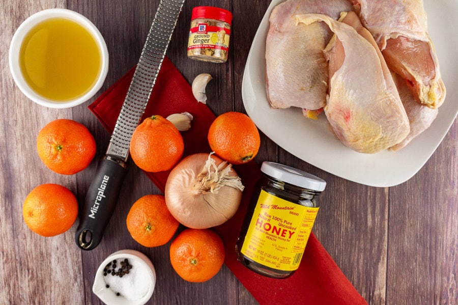
[[[28,17],[13,36],[10,70],[19,89],[52,108],[76,106],[102,86],[108,51],[96,26],[67,9]]]

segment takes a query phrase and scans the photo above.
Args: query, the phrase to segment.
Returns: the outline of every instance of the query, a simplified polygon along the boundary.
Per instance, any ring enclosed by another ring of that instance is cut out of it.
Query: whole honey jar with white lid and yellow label
[[[299,268],[326,182],[268,161],[261,172],[237,240],[237,259],[262,275],[287,278]]]

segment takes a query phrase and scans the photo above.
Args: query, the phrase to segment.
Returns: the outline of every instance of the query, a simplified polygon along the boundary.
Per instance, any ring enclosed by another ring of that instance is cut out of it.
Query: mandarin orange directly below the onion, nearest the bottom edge
[[[210,229],[185,229],[170,244],[170,263],[188,282],[213,278],[224,262],[224,244]]]

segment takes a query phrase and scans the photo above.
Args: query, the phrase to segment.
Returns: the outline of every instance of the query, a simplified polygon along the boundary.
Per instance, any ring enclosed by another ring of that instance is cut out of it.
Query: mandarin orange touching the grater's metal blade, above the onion
[[[170,170],[181,159],[183,151],[180,131],[161,116],[146,118],[135,128],[130,141],[132,160],[147,172]]]

